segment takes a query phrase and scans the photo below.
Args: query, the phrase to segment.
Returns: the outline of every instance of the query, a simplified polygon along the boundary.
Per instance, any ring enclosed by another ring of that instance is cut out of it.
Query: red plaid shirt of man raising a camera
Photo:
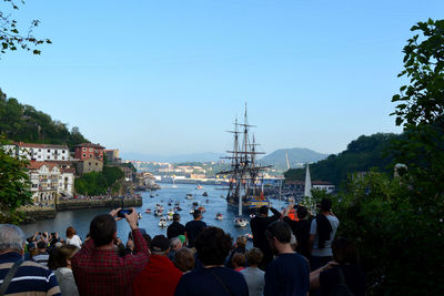
[[[132,232],[134,254],[119,257],[113,249],[95,249],[92,239],[72,257],[72,272],[80,295],[131,295],[134,277],[148,263],[147,241]]]

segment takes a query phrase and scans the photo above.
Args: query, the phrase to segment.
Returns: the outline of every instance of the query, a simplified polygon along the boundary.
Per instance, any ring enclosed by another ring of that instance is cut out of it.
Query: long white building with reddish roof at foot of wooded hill
[[[52,144],[33,144],[19,142],[13,145],[16,151],[12,155],[20,155],[29,161],[52,162],[52,161],[71,161],[69,149],[67,145]],[[11,150],[11,145],[8,146]]]

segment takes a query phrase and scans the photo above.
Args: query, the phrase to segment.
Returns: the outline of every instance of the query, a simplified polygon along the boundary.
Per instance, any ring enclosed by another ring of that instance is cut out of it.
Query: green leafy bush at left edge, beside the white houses
[[[1,149],[8,144],[0,136],[0,223],[18,223],[17,208],[31,202],[28,162]]]

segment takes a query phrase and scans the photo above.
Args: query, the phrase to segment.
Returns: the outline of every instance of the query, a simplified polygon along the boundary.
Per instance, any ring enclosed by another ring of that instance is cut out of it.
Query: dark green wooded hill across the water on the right
[[[340,154],[330,155],[326,160],[310,166],[312,180],[322,180],[339,186],[352,173],[367,172],[377,167],[381,172],[393,171],[393,153],[390,146],[401,135],[393,133],[377,133],[361,135],[352,141],[347,149]],[[291,169],[284,173],[285,180],[305,180],[305,169]]]

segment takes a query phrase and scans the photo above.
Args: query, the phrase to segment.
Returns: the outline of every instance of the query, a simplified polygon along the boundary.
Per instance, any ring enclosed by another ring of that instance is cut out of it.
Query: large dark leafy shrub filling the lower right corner
[[[416,206],[415,195],[407,180],[371,171],[351,176],[346,188],[332,196],[341,221],[337,236],[356,243],[373,295],[440,295],[444,289],[437,279],[444,272],[444,201],[436,200],[430,211]]]

